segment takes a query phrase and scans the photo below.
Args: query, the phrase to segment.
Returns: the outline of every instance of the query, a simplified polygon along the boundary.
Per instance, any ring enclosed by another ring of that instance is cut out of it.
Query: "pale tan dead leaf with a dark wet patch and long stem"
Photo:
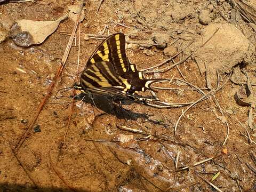
[[[58,28],[60,21],[66,18],[67,15],[55,21],[18,20],[13,23],[9,36],[19,46],[40,44]]]

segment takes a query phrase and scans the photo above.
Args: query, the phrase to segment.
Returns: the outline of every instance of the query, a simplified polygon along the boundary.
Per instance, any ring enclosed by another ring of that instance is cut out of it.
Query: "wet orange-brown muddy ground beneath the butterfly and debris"
[[[7,37],[10,26],[20,19],[57,20],[78,2],[5,1],[0,4],[0,191],[256,191],[255,93],[245,105],[237,99],[248,83],[255,92],[255,2],[105,0],[99,7],[100,2],[85,1],[79,73],[102,35],[122,31],[128,42],[137,42],[127,44],[126,53],[139,69],[155,66],[193,42],[157,69],[190,53],[193,57],[147,77],[173,79],[157,85],[178,89],[158,90],[165,102],[211,97],[183,116],[189,105],[156,109],[86,98],[75,103],[67,130],[73,92],[57,91],[74,84],[77,33],[51,97],[15,150],[54,81],[75,22],[62,21],[43,43],[29,47]],[[250,13],[242,16],[237,7]]]

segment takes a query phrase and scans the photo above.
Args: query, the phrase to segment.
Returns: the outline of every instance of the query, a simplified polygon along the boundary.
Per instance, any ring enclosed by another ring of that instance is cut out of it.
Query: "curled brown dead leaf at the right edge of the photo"
[[[241,106],[251,106],[251,105],[255,106],[256,105],[256,97],[253,94],[253,89],[252,89],[252,85],[251,85],[251,81],[250,81],[249,77],[247,77],[246,94],[242,88],[236,92],[236,95],[237,95],[237,102],[239,105],[241,105]]]

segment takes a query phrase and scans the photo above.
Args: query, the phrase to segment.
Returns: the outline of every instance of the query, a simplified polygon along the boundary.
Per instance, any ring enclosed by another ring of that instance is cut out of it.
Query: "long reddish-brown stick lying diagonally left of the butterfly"
[[[70,49],[71,49],[71,45],[72,45],[72,42],[73,42],[73,39],[75,37],[75,32],[76,32],[76,29],[77,29],[77,26],[78,26],[78,19],[80,17],[80,14],[81,13],[78,13],[78,17],[77,17],[77,21],[76,21],[76,24],[73,28],[73,31],[72,31],[72,34],[69,38],[69,42],[67,44],[67,47],[66,47],[66,50],[65,50],[65,53],[63,54],[63,57],[61,59],[61,63],[59,65],[59,68],[57,70],[57,73],[55,74],[55,77],[54,77],[54,80],[52,81],[52,83],[49,85],[48,89],[47,89],[47,93],[45,94],[42,102],[39,104],[38,106],[38,109],[37,109],[37,113],[36,115],[34,116],[33,120],[31,121],[31,123],[29,123],[29,125],[26,127],[26,131],[21,135],[19,141],[17,142],[16,146],[14,147],[14,151],[15,153],[18,152],[18,150],[20,149],[20,147],[22,146],[23,142],[26,140],[27,138],[27,135],[28,133],[31,131],[31,129],[33,128],[34,124],[36,123],[36,120],[39,116],[39,114],[41,113],[42,109],[44,108],[44,105],[46,103],[46,101],[50,98],[51,96],[51,92],[53,90],[53,87],[55,86],[55,83],[57,82],[57,80],[59,79],[61,73],[62,73],[62,70],[63,68],[65,67],[65,64],[66,64],[66,61],[67,61],[67,58],[68,58],[68,54],[70,52]]]

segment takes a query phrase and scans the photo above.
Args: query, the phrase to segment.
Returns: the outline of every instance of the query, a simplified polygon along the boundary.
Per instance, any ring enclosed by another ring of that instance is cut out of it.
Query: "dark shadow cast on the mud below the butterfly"
[[[118,119],[130,119],[136,121],[138,118],[143,118],[147,119],[148,122],[167,126],[167,124],[163,124],[162,122],[150,119],[150,117],[154,115],[135,113],[131,110],[124,109],[123,105],[131,105],[135,102],[131,99],[122,97],[107,97],[105,95],[98,94],[81,93],[75,96],[75,100],[81,100],[85,103],[90,103],[92,106],[97,107],[98,109],[104,111],[108,115],[114,115]]]

